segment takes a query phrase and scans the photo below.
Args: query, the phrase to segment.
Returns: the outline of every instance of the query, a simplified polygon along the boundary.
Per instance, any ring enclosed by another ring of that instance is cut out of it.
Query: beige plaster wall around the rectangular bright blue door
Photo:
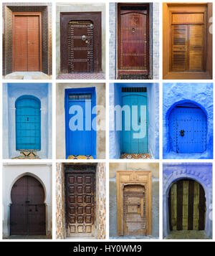
[[[56,85],[56,158],[65,159],[65,89],[95,87],[96,105],[105,107],[105,84],[102,83],[59,83]],[[104,115],[97,115],[97,128],[105,122]],[[97,159],[105,159],[105,131],[96,133]]]

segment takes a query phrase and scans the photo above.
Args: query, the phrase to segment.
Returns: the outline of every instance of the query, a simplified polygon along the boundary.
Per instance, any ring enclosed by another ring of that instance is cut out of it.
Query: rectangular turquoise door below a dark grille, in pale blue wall
[[[129,89],[129,87],[128,87]],[[121,153],[148,153],[148,100],[147,93],[123,90]]]

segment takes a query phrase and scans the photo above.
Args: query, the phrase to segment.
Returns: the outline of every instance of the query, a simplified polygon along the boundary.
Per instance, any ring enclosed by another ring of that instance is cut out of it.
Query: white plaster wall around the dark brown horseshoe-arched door
[[[2,231],[3,237],[9,236],[9,206],[11,204],[11,188],[22,176],[29,175],[38,179],[44,187],[47,215],[47,235],[52,234],[52,166],[50,164],[5,164],[2,171]]]

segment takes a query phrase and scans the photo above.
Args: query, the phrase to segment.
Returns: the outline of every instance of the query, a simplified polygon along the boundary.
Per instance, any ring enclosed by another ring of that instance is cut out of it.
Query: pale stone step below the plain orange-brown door
[[[4,77],[4,79],[17,79],[17,80],[46,80],[52,79],[52,76],[44,74],[43,72],[13,72]]]

